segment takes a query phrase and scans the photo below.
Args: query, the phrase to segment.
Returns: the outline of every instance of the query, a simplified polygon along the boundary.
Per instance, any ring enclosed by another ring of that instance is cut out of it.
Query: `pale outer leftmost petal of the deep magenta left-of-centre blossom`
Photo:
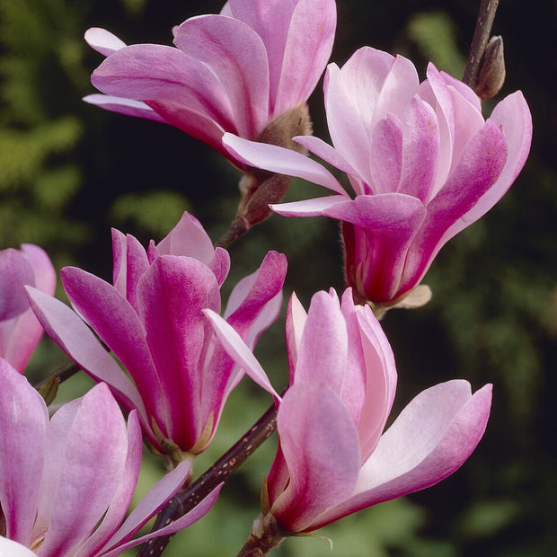
[[[111,355],[102,348],[93,332],[66,304],[36,288],[27,287],[33,312],[49,337],[97,381],[111,385],[128,410],[137,408],[144,424],[146,411],[136,387]]]

